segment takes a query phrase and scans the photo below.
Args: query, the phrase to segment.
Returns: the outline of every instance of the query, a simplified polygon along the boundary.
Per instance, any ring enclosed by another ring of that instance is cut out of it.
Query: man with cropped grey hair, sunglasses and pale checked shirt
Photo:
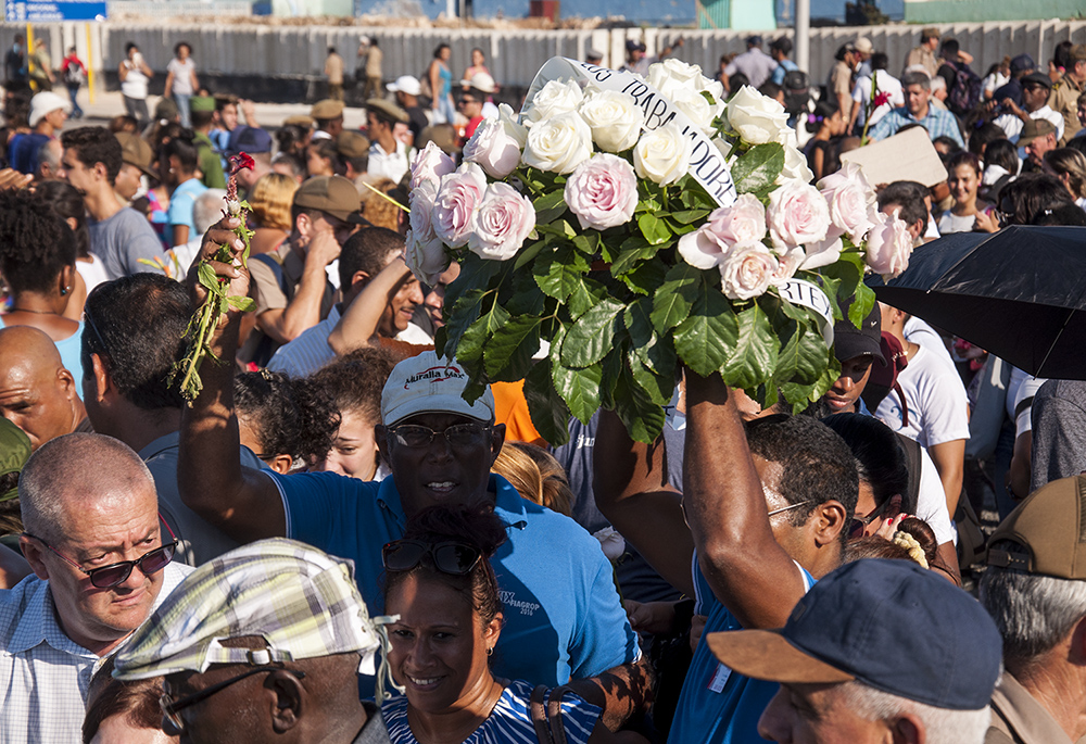
[[[18,492],[20,544],[35,576],[0,592],[0,741],[80,741],[97,664],[190,569],[171,563],[154,481],[115,439],[48,442]]]

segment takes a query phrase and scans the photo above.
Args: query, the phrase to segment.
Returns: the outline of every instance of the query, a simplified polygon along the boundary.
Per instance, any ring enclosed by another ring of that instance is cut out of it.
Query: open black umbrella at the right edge
[[[886,304],[1032,375],[1086,380],[1086,227],[949,235],[875,283]]]

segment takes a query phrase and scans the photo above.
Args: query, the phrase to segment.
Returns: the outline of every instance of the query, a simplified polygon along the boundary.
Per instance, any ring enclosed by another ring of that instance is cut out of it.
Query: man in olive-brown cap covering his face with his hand
[[[250,333],[242,358],[266,364],[281,344],[328,316],[336,287],[326,268],[355,227],[366,224],[361,209],[358,190],[343,176],[316,176],[294,192],[290,235],[249,262],[257,330]]]

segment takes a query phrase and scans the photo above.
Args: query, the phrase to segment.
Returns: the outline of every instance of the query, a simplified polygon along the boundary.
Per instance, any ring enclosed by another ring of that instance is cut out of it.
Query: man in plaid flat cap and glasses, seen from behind
[[[192,744],[387,744],[380,711],[357,694],[387,646],[384,620],[370,619],[349,562],[262,540],[187,577],[113,676],[165,676],[163,730]]]

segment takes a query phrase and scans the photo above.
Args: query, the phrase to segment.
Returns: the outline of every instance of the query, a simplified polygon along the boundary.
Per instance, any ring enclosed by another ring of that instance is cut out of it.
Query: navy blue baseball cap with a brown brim
[[[710,633],[746,677],[853,680],[950,710],[980,710],[999,678],[1002,639],[972,596],[911,560],[864,558],[819,581],[779,630]]]

